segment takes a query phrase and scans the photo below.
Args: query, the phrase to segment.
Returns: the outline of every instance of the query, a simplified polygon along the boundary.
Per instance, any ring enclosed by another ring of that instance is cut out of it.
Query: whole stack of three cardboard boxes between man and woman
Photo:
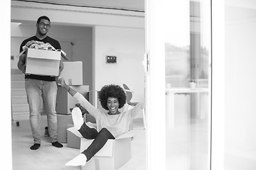
[[[89,86],[82,85],[82,62],[63,62],[60,77],[65,79],[71,89],[78,91],[89,100]],[[73,124],[70,108],[78,103],[62,86],[58,86],[56,112],[58,114],[58,140],[67,142],[67,125]],[[71,120],[71,121],[70,121]]]

